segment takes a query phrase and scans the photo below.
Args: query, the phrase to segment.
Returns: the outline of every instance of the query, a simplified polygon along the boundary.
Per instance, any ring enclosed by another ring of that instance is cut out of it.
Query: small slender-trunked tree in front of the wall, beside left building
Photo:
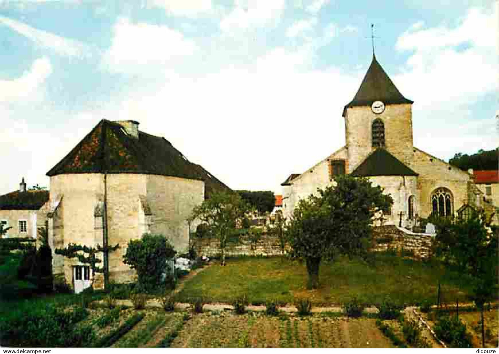
[[[247,211],[248,205],[238,194],[217,192],[196,206],[189,217],[191,222],[205,223],[205,231],[219,240],[222,265],[225,265],[227,238],[237,232]]]

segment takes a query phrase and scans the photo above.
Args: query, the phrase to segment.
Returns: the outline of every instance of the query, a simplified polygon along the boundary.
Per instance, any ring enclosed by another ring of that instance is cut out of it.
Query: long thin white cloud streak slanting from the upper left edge
[[[33,28],[7,17],[0,16],[0,23],[29,38],[37,45],[53,50],[59,55],[84,57],[92,52],[89,46],[81,42]]]

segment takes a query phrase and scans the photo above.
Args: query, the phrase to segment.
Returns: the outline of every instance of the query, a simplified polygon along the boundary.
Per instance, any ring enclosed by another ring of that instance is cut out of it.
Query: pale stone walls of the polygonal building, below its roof
[[[50,201],[60,195],[62,199],[50,225],[55,248],[64,248],[69,243],[102,245],[102,213],[97,210],[104,200],[104,175],[53,176]],[[125,282],[135,276],[135,271],[123,263],[123,255],[128,241],[140,238],[144,230],[141,196],[151,208],[150,232],[164,234],[181,251],[188,247],[186,218],[204,200],[204,182],[142,174],[107,175],[108,243],[120,245],[109,254],[112,281]],[[55,255],[54,274],[63,273],[67,283],[72,284],[72,266],[79,264],[76,258]]]

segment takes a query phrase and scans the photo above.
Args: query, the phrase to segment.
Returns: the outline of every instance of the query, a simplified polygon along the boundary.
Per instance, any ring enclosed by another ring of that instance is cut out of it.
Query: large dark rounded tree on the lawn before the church
[[[367,254],[375,212],[393,204],[389,195],[366,178],[337,176],[335,183],[300,200],[286,229],[290,255],[305,259],[309,289],[318,286],[322,259]]]

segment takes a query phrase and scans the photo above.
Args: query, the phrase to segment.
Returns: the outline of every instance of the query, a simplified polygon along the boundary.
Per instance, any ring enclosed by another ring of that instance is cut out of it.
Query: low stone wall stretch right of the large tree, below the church
[[[417,258],[431,256],[434,234],[413,233],[394,225],[379,226],[373,229],[375,246],[373,251],[395,250],[398,254],[412,253]]]

